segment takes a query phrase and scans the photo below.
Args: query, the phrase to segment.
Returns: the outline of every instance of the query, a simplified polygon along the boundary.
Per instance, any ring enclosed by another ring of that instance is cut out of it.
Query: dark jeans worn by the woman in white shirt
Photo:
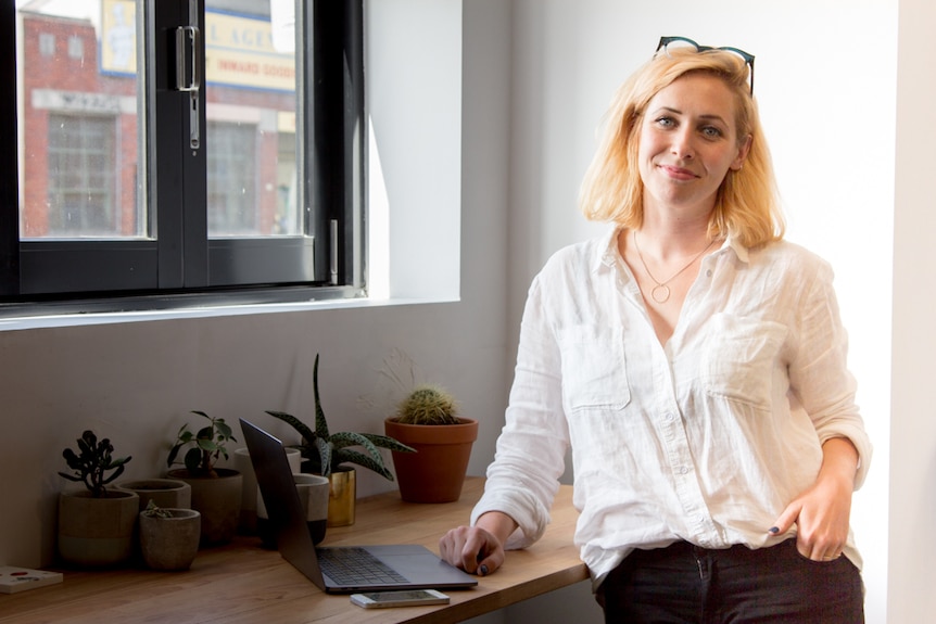
[[[607,624],[862,624],[864,591],[845,557],[810,561],[796,539],[751,550],[678,542],[635,550],[596,596]]]

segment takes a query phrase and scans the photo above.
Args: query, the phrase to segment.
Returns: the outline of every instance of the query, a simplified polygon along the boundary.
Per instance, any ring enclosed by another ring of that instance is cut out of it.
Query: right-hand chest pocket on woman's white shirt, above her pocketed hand
[[[726,314],[709,322],[714,326],[710,332],[714,339],[701,358],[706,392],[770,409],[786,327]]]

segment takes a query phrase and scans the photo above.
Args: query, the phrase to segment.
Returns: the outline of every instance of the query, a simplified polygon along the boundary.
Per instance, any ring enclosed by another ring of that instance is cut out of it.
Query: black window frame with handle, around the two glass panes
[[[205,1],[197,2],[204,24]],[[147,177],[155,240],[21,241],[18,148],[0,143],[0,317],[157,310],[365,296],[367,124],[363,0],[296,2],[304,25],[304,72],[296,141],[305,227],[316,237],[210,239],[205,150],[187,143],[188,93],[175,90],[174,33],[190,24],[189,0],[146,0],[149,85]],[[17,136],[16,9],[0,8],[3,135]],[[197,53],[204,66],[204,46]],[[205,89],[200,128],[206,129]],[[161,131],[156,131],[160,128]],[[165,131],[175,128],[176,131]],[[210,139],[208,139],[210,140]],[[170,204],[184,206],[175,213]],[[314,265],[314,272],[312,270]],[[69,269],[63,276],[63,267]],[[50,281],[51,280],[51,281]],[[53,292],[54,291],[54,292]]]

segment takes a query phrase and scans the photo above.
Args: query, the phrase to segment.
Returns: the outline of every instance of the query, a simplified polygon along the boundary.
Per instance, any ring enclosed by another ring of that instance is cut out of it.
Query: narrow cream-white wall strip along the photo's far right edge
[[[900,0],[897,74],[894,364],[888,622],[933,622],[936,518],[936,7]],[[870,250],[877,256],[876,250]],[[869,291],[869,296],[874,293]]]

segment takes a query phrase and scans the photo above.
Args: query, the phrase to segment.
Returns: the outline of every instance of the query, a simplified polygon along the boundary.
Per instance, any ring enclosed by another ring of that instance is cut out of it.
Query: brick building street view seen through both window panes
[[[155,238],[144,191],[144,4],[16,0],[22,240]],[[206,5],[200,35],[211,238],[303,231],[295,36],[282,7]]]

